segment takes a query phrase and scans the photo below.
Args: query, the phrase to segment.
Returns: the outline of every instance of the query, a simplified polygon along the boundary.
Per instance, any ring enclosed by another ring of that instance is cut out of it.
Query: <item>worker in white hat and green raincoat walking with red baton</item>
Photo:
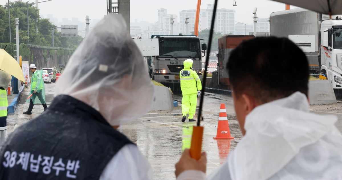
[[[41,103],[44,107],[44,111],[48,108],[48,106],[45,103],[45,86],[43,81],[43,70],[37,70],[35,64],[30,64],[29,69],[31,70],[32,78],[31,78],[31,92],[30,95],[32,96],[27,99],[26,102],[29,102],[30,105],[28,107],[28,110],[24,112],[25,115],[32,114],[31,111],[33,109],[34,104]]]

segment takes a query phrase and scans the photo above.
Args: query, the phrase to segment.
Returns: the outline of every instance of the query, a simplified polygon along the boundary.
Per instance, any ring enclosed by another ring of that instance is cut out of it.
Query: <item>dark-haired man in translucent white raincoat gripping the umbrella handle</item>
[[[286,38],[255,38],[228,63],[244,137],[209,180],[342,179],[342,136],[336,116],[309,112],[305,54]],[[205,179],[206,156],[176,164],[177,180]]]

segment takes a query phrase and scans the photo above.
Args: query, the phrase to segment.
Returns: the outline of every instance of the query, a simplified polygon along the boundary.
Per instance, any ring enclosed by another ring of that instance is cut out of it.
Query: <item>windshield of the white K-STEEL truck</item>
[[[197,38],[159,38],[159,57],[200,58],[199,39]]]

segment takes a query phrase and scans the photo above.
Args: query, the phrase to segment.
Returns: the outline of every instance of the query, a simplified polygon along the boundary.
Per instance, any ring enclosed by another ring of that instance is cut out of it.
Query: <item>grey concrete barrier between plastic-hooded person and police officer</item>
[[[172,110],[172,94],[167,87],[154,86],[153,104],[150,111]]]

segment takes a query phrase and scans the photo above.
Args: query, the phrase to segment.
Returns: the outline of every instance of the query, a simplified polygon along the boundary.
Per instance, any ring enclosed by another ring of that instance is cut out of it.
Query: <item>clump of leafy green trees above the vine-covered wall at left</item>
[[[8,7],[10,7],[12,42],[15,43],[14,21],[15,18],[19,18],[19,43],[27,44],[28,39],[30,39],[30,44],[40,46],[52,45],[51,30],[56,27],[56,25],[52,24],[49,19],[40,18],[39,9],[34,7],[32,3],[23,2],[22,0],[10,2],[9,4],[7,3],[5,6],[0,5],[0,43],[10,42]],[[30,38],[28,38],[27,29],[27,7]],[[55,32],[60,33],[57,32],[56,29]],[[76,38],[62,38],[55,36],[54,45],[55,47],[62,48],[77,48],[82,39],[83,38],[80,36]]]

